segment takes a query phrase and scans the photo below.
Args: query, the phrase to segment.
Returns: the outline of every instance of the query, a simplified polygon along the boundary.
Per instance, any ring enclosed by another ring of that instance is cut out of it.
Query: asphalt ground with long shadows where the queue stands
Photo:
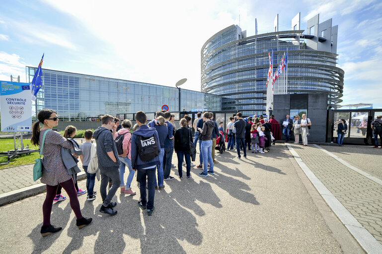
[[[363,253],[348,232],[338,233],[341,225],[327,225],[320,211],[330,209],[314,201],[318,195],[306,187],[285,145],[248,159],[238,160],[234,152],[217,158],[215,176],[199,177],[193,168],[191,179],[165,182],[155,192],[153,216],[138,207],[138,194],[117,192],[112,217],[98,212],[100,196],[89,202],[82,195],[83,214],[93,223],[78,230],[65,200],[52,211],[52,223],[63,230],[42,238],[44,194],[2,206],[0,253]]]

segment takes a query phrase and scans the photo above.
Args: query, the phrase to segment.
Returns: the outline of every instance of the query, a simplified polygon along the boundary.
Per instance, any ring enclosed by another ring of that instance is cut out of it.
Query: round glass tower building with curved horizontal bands
[[[300,13],[291,30],[247,37],[237,25],[213,35],[201,50],[201,90],[224,96],[222,110],[243,115],[265,114],[268,53],[273,51],[274,72],[288,50],[288,93],[328,94],[328,106],[342,102],[344,71],[337,67],[337,31],[332,19],[319,22],[319,14],[300,29]]]

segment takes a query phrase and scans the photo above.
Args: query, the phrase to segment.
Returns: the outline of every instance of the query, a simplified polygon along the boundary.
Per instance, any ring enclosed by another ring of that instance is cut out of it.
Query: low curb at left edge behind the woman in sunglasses
[[[86,173],[84,171],[81,171],[77,174],[77,181],[81,181],[84,179],[86,179]],[[15,202],[20,199],[24,199],[29,196],[34,196],[45,191],[45,184],[35,184],[32,186],[21,188],[19,190],[8,191],[0,194],[0,206]]]

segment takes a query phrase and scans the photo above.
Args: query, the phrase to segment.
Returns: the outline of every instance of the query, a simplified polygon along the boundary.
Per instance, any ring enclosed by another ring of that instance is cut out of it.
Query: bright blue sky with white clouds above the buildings
[[[203,44],[235,24],[255,34],[301,29],[319,13],[338,25],[338,67],[345,71],[342,105],[382,108],[381,0],[0,0],[0,80],[20,75],[25,65],[175,86],[200,91]]]

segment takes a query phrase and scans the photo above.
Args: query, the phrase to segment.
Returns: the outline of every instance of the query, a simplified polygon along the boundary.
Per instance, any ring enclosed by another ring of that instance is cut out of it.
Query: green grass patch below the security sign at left
[[[34,146],[30,143],[30,139],[23,139],[24,147],[29,145],[30,149],[38,149],[38,146]],[[6,152],[9,150],[14,149],[14,142],[13,138],[1,138],[0,139],[0,151]],[[34,163],[34,160],[40,157],[40,154],[38,152],[30,153],[30,154],[23,154],[19,155],[16,158],[13,158],[10,160],[9,164],[0,165],[1,168],[8,168],[8,167],[14,167],[29,163]],[[0,157],[0,163],[7,162],[7,157]]]

